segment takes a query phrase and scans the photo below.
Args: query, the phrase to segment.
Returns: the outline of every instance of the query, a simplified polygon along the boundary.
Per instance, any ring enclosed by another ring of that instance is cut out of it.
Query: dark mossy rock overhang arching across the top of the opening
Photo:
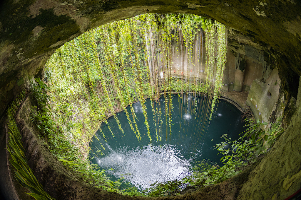
[[[273,57],[284,89],[296,98],[300,1],[7,0],[0,9],[0,115],[18,89],[17,80],[37,74],[55,49],[87,30],[142,13],[192,13],[240,31]]]

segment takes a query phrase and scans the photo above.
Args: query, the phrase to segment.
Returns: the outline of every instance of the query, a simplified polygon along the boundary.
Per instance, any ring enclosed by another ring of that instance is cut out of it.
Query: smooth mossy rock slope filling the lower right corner
[[[301,84],[299,84],[296,106],[290,125],[265,158],[250,173],[249,180],[243,185],[237,199],[280,200],[300,189]]]

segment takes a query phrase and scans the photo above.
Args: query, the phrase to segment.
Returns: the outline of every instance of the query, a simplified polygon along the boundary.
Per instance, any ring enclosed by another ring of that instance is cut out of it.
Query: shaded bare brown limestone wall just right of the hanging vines
[[[267,52],[267,48],[256,45],[249,37],[237,32],[229,34],[226,63],[228,77],[224,76],[228,82],[224,81],[223,91],[249,91],[253,80],[262,79],[269,67],[276,68],[275,63],[268,62],[272,55]]]

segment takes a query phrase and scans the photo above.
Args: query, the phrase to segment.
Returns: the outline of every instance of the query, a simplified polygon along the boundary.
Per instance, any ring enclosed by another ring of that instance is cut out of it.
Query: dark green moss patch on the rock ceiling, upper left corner
[[[29,5],[24,7],[26,6]],[[10,11],[13,12],[12,10]],[[79,26],[71,17],[66,15],[56,16],[53,9],[40,9],[39,11],[40,14],[34,18],[29,17],[29,13],[26,10],[22,14],[10,16],[8,20],[2,21],[3,40],[14,40],[15,44],[32,40],[32,30],[36,26],[39,25],[43,28],[40,37],[37,37],[30,45],[32,50],[26,51],[26,54],[22,55],[24,57],[31,57],[36,52],[38,52],[38,55],[48,52],[51,44],[55,44],[60,40],[66,40],[71,35],[79,32]],[[4,17],[5,14],[7,13],[2,13],[2,16]]]

